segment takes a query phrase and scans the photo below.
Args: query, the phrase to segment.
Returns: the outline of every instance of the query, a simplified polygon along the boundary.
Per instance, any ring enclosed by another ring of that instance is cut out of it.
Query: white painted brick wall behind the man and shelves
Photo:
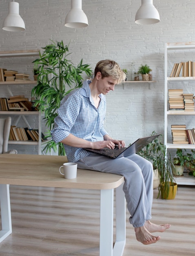
[[[7,16],[9,1],[0,1],[1,25]],[[16,33],[0,29],[0,51],[40,49],[52,39],[63,40],[64,44],[70,42],[73,63],[77,64],[83,58],[93,69],[105,58],[114,59],[122,68],[128,68],[132,61],[136,69],[146,63],[153,70],[153,79],[157,83],[151,84],[150,88],[148,84],[125,84],[124,88],[116,85],[115,91],[107,96],[105,128],[112,137],[124,139],[126,144],[151,134],[153,130],[164,133],[164,43],[195,42],[195,1],[153,0],[161,21],[154,25],[137,25],[134,19],[141,0],[82,0],[82,9],[89,20],[89,26],[83,29],[64,27],[71,0],[18,2],[26,30]],[[23,64],[24,70],[31,72],[32,67],[26,68],[27,63]],[[9,67],[18,68],[12,65],[10,63]],[[0,67],[3,66],[3,59],[0,59]],[[27,90],[24,87],[25,93]],[[15,87],[14,92],[19,94],[20,87]],[[4,93],[1,86],[0,97]],[[37,151],[33,146],[20,146],[20,152]]]

